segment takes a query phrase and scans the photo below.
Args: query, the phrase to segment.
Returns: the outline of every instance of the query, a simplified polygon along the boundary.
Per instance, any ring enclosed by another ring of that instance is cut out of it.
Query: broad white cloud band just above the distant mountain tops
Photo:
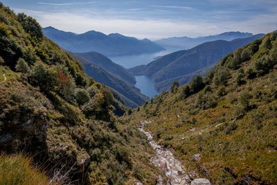
[[[76,12],[40,12],[26,9],[16,9],[17,12],[26,12],[35,17],[39,23],[53,26],[60,30],[74,33],[84,33],[88,30],[98,30],[102,33],[120,33],[143,39],[159,39],[173,36],[197,37],[213,35],[230,30],[240,30],[250,33],[268,33],[276,30],[277,12],[274,15],[259,15],[242,21],[215,21],[186,20],[176,21],[170,19],[126,19],[107,18],[91,15],[80,15]]]

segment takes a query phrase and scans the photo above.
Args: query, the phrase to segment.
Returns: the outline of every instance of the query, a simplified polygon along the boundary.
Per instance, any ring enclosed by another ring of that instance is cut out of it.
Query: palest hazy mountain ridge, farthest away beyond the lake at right
[[[241,33],[237,32],[225,32],[220,33],[218,35],[209,35],[204,37],[169,37],[166,39],[159,39],[154,41],[155,43],[163,46],[165,49],[175,48],[175,49],[192,49],[193,47],[203,44],[204,42],[211,42],[219,39],[223,39],[226,41],[231,41],[233,39],[240,39],[245,37],[252,37],[252,33]]]

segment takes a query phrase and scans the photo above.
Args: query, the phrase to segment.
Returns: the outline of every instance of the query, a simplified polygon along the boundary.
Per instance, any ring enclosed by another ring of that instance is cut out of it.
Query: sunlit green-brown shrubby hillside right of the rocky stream
[[[277,33],[133,112],[187,172],[213,184],[277,184]]]

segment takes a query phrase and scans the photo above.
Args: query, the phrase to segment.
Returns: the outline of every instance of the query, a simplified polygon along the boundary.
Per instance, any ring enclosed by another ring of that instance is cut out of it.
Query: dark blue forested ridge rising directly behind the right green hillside
[[[170,53],[150,62],[146,66],[135,67],[129,71],[134,75],[149,76],[156,83],[162,82],[159,85],[165,85],[163,87],[157,86],[157,89],[169,89],[172,85],[170,82],[175,80],[175,78],[181,82],[181,76],[186,77],[188,73],[211,66],[224,57],[224,55],[262,36],[262,34],[254,35],[253,37],[234,39],[230,42],[224,40],[206,42],[193,49]],[[166,82],[167,80],[168,82]]]

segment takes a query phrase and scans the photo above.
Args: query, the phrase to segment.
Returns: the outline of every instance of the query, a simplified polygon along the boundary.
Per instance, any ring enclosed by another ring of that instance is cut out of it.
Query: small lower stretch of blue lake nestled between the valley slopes
[[[154,82],[151,78],[147,76],[135,76],[136,78],[136,88],[141,90],[141,93],[148,96],[149,98],[153,98],[155,95],[159,94],[154,87]]]

